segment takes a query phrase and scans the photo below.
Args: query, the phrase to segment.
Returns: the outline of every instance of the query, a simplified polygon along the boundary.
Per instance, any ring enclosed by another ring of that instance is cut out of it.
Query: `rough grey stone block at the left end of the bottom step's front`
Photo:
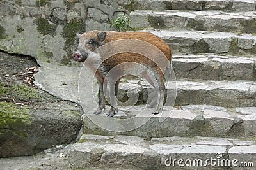
[[[146,160],[145,164],[141,164]],[[93,143],[77,143],[70,148],[68,162],[72,167],[81,168],[88,166],[99,166],[104,164],[113,166],[136,166],[152,167],[149,162],[158,162],[159,157],[156,152],[139,146],[124,144],[104,143],[93,145]],[[146,165],[147,164],[147,165]],[[155,165],[157,167],[159,165]]]

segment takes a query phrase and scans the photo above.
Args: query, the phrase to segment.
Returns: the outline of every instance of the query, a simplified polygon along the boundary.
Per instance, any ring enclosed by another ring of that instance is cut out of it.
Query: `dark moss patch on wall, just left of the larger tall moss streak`
[[[38,20],[36,20],[36,25],[37,25],[37,30],[40,34],[44,36],[45,35],[55,36],[57,25],[50,24],[48,20],[44,18],[39,18]]]

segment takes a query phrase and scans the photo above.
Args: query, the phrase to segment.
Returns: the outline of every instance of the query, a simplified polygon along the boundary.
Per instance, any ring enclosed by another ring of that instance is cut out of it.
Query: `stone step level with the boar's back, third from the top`
[[[141,30],[152,32],[170,45],[175,53],[219,53],[255,55],[256,36],[228,32],[189,31],[182,29]]]

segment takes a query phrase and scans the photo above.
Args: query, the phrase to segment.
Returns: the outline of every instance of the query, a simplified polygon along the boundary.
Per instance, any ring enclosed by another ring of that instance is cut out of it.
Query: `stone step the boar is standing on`
[[[108,108],[100,115],[83,115],[83,134],[132,135],[143,138],[164,136],[255,137],[256,107],[223,108],[211,105],[164,106],[152,115],[152,109],[139,106],[118,106],[113,118]]]

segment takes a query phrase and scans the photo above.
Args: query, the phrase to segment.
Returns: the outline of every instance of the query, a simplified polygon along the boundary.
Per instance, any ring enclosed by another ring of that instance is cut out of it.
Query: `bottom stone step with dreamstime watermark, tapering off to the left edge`
[[[39,153],[31,157],[0,158],[2,169],[227,169],[218,160],[230,163],[250,162],[253,158],[255,145],[237,147],[236,145],[221,145],[218,141],[239,141],[245,138],[217,138],[217,137],[165,137],[157,140],[142,138],[143,143],[127,143],[113,141],[124,136],[96,136],[83,135],[89,141],[79,141],[57,149],[49,148],[51,153]],[[101,139],[100,139],[101,138]],[[136,136],[125,136],[134,139]],[[166,140],[166,139],[170,140]],[[253,142],[253,138],[246,138]],[[215,144],[198,145],[200,141],[212,140]],[[225,144],[225,143],[223,143]],[[237,152],[238,151],[238,152]],[[243,153],[242,153],[242,152]],[[239,153],[240,152],[240,153]],[[180,160],[179,160],[180,159]],[[212,165],[204,167],[205,161],[212,159]],[[244,160],[248,159],[248,160]],[[178,163],[179,160],[179,163]],[[190,161],[191,165],[190,165]],[[201,162],[202,161],[202,162]],[[195,162],[195,165],[193,163]],[[254,163],[254,161],[253,161]],[[239,164],[240,166],[240,164]],[[230,166],[230,169],[241,167]],[[244,167],[243,167],[244,169]],[[248,169],[255,169],[250,167]]]

